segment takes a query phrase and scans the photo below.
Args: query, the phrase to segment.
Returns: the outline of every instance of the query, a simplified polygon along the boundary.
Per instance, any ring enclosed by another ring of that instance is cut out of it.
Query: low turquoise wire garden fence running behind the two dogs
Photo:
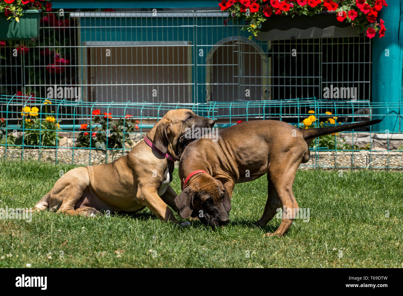
[[[283,120],[299,128],[347,124],[377,118],[395,122],[396,118],[392,118],[393,115],[388,110],[400,110],[395,116],[400,116],[399,113],[403,111],[401,103],[328,101],[316,98],[207,103],[106,103],[3,95],[0,97],[0,105],[0,152],[3,157],[37,158],[60,163],[61,155],[68,153],[69,157],[64,157],[62,162],[75,164],[110,162],[127,154],[171,109],[191,109],[196,114],[216,120],[218,128],[237,124],[240,120],[257,119]],[[386,110],[385,114],[382,113],[383,110]],[[315,120],[306,120],[310,116],[315,116]],[[376,126],[366,130],[343,132],[340,135],[328,135],[325,136],[326,141],[322,141],[322,138],[316,139],[310,148],[311,160],[305,166],[388,170],[403,168],[402,153],[399,152],[403,151],[403,146],[391,145],[395,141],[400,143],[403,133],[389,130],[373,132],[373,129],[377,130]],[[87,135],[83,136],[85,133]],[[355,145],[357,139],[363,136],[366,138],[366,145]],[[66,138],[70,139],[70,144],[60,145]],[[97,142],[104,142],[104,145]],[[35,155],[32,157],[33,151]],[[46,151],[51,151],[52,157],[44,157]],[[81,153],[81,162],[77,161],[77,153]],[[92,159],[94,155],[97,155],[97,161]],[[86,159],[83,160],[83,157]],[[321,159],[326,157],[330,157],[330,163],[322,164]],[[364,163],[362,159],[357,160],[357,157],[364,157]],[[374,159],[379,157],[383,160],[375,160],[374,163]]]

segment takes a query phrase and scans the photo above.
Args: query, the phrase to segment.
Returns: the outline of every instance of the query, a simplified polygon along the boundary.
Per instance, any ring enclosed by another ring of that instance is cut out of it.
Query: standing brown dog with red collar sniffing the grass
[[[179,214],[198,216],[209,225],[226,224],[235,184],[267,173],[268,199],[255,225],[265,226],[281,208],[280,226],[266,235],[282,236],[299,210],[292,186],[299,164],[309,160],[311,141],[380,121],[298,129],[278,120],[254,120],[221,130],[216,142],[198,139],[187,146],[179,162],[183,192],[174,199]]]

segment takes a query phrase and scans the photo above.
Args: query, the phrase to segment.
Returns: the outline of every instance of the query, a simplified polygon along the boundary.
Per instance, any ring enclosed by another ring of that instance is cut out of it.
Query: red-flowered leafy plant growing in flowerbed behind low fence
[[[92,112],[89,124],[81,124],[81,133],[77,137],[76,147],[91,147],[96,149],[123,148],[125,143],[132,145],[128,134],[139,128],[138,121],[127,114],[124,119],[111,120],[111,113],[101,115],[100,110]]]

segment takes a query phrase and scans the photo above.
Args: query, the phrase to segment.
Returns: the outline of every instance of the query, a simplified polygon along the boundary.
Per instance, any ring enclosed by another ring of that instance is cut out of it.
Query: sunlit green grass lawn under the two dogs
[[[0,208],[33,207],[71,165],[0,162]],[[171,183],[177,193],[177,170]],[[180,228],[148,209],[94,218],[34,213],[0,220],[0,267],[402,267],[403,173],[298,171],[294,194],[309,222],[295,220],[281,237],[264,237],[262,177],[235,186],[229,225]],[[385,217],[386,211],[389,217]],[[343,256],[339,258],[339,250]],[[51,254],[49,254],[51,253]],[[248,256],[249,255],[249,256]]]

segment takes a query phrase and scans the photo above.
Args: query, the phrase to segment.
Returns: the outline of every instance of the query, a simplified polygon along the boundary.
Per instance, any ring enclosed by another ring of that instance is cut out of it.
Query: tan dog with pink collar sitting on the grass
[[[214,120],[187,109],[170,110],[129,154],[109,164],[70,170],[36,205],[37,210],[93,216],[101,210],[137,212],[149,208],[162,221],[177,221],[172,181],[174,161],[194,139],[186,129],[211,128]]]

